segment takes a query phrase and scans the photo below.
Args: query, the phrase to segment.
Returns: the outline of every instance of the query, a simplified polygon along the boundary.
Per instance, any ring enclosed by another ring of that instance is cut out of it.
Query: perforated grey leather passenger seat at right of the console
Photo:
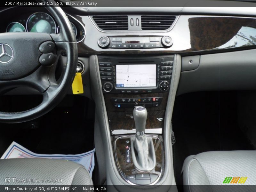
[[[255,186],[256,151],[211,151],[188,156],[184,161],[182,172],[183,185],[204,185],[208,186],[208,191],[215,191],[212,186],[231,184],[234,177],[239,178],[233,180],[233,182],[237,180],[236,183],[232,183],[233,186]],[[225,183],[228,179],[224,182],[226,177],[232,177],[229,183]],[[243,184],[239,184],[241,177],[247,177]],[[186,191],[194,191],[191,187],[184,188]]]

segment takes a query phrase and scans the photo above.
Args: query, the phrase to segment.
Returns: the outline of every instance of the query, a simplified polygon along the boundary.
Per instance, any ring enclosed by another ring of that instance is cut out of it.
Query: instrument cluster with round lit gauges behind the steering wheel
[[[67,16],[76,35],[77,43],[83,41],[85,38],[84,25],[71,15]],[[60,28],[50,14],[46,12],[34,12],[28,17],[23,16],[17,20],[12,19],[12,22],[8,23],[6,26],[6,32],[58,34],[60,33]]]

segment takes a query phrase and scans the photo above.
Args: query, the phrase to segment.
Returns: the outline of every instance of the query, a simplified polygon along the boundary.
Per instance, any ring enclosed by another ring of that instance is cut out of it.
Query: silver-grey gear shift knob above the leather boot
[[[144,135],[148,111],[145,107],[135,107],[133,109],[133,119],[135,122],[136,134]]]

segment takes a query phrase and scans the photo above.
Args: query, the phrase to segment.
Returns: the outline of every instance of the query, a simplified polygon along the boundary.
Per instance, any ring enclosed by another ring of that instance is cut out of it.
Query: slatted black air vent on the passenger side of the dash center
[[[176,19],[175,16],[166,15],[142,15],[141,29],[142,30],[165,30],[172,26]]]

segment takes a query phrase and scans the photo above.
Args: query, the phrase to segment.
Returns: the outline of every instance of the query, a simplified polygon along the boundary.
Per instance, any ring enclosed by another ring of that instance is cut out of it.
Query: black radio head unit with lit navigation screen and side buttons
[[[173,57],[156,59],[99,58],[105,93],[159,93],[169,91]]]

